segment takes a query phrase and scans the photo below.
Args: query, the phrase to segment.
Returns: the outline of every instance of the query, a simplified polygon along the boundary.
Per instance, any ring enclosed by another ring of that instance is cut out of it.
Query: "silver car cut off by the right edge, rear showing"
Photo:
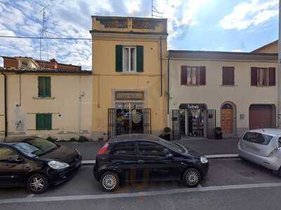
[[[280,146],[280,129],[259,129],[245,132],[237,147],[241,158],[271,169],[281,176]]]

